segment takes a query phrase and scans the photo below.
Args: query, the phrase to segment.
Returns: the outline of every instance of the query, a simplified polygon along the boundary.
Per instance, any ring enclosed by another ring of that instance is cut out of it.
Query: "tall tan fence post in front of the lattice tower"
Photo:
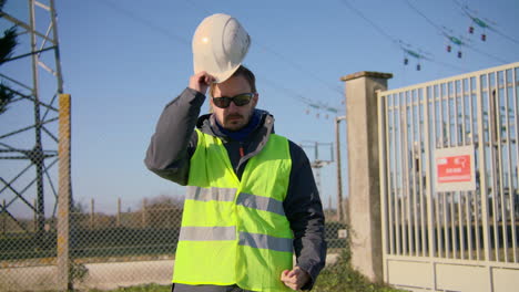
[[[70,261],[70,204],[72,185],[70,176],[70,94],[59,95],[59,189],[58,189],[58,289],[72,290]]]

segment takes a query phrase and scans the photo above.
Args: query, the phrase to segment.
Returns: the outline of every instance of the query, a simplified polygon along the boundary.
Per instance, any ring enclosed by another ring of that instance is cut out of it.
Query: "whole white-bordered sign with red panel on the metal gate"
[[[436,191],[476,190],[474,153],[474,145],[435,150]]]

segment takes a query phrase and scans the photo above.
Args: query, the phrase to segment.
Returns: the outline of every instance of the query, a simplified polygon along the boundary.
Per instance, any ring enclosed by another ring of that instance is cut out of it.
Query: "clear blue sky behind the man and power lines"
[[[393,73],[389,88],[397,88],[519,61],[516,0],[55,2],[64,91],[72,94],[73,194],[84,204],[94,198],[104,212],[115,210],[118,197],[126,209],[144,197],[183,194],[147,171],[143,158],[162,108],[193,73],[191,38],[208,14],[228,13],[248,31],[252,46],[244,63],[257,76],[258,107],[269,111],[276,132],[295,143],[334,142],[333,118],[345,114],[344,75]],[[485,31],[486,42],[461,10],[467,3],[495,28]],[[26,7],[11,0],[6,11],[27,19]],[[447,35],[467,45],[451,44],[449,53]],[[428,60],[407,55],[405,65],[405,50]],[[328,148],[319,153],[327,158]],[[314,158],[312,148],[307,154]],[[325,206],[335,198],[335,169],[332,164],[320,171]]]

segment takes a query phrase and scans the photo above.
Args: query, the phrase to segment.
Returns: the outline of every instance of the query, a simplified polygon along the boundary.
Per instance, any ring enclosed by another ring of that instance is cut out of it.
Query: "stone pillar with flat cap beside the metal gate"
[[[390,77],[358,72],[340,79],[346,83],[352,264],[376,282],[384,280],[376,91],[386,91]]]

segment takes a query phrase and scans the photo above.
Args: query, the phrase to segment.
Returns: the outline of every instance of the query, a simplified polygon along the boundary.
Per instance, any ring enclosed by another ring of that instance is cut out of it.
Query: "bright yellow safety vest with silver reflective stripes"
[[[288,140],[271,134],[240,180],[220,138],[196,129],[173,282],[292,291],[293,232],[283,201],[292,159]]]

